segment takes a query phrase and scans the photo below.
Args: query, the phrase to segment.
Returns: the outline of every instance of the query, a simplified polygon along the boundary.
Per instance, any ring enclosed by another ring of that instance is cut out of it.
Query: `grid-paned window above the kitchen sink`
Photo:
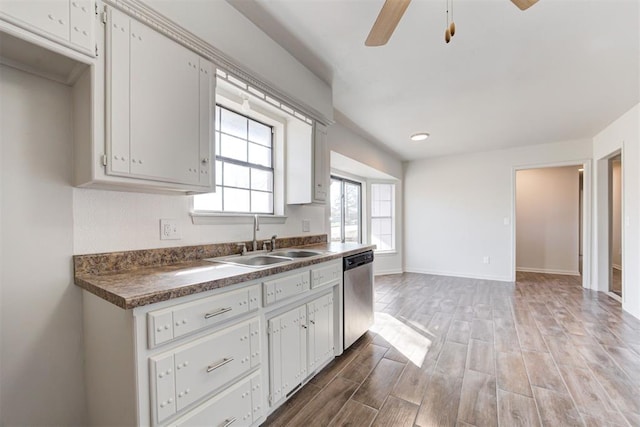
[[[216,192],[196,211],[273,214],[273,128],[216,105]]]

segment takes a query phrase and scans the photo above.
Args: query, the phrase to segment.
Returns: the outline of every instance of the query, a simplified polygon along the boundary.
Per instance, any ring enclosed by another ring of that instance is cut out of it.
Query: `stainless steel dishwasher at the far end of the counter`
[[[373,251],[344,257],[344,348],[373,325]]]

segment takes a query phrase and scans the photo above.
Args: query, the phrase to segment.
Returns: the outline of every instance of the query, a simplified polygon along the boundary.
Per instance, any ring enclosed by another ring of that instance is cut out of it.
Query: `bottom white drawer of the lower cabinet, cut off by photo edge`
[[[249,426],[261,415],[260,374],[255,373],[170,425],[172,427]]]

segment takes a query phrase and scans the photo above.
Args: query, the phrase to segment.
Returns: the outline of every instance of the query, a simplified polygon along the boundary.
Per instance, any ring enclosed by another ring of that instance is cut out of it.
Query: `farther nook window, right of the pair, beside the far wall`
[[[371,243],[395,250],[394,184],[371,184]]]

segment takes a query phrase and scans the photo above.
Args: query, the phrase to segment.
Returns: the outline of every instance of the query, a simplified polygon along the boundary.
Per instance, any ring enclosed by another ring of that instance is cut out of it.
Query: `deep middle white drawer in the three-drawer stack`
[[[150,358],[151,405],[158,421],[185,409],[260,363],[257,318]]]

